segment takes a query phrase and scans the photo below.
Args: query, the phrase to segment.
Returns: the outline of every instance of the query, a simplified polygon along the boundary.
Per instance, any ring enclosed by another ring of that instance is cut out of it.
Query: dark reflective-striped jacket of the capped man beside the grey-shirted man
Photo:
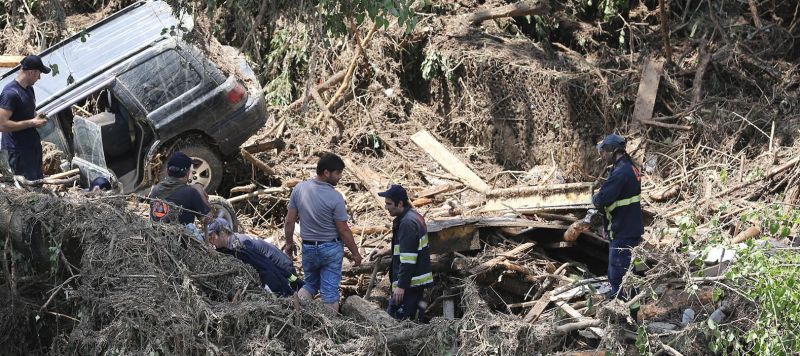
[[[392,224],[392,288],[408,289],[433,283],[425,218],[407,208]]]

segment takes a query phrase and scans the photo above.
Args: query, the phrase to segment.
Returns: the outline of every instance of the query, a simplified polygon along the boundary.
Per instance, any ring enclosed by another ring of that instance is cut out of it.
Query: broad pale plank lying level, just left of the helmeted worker
[[[483,211],[526,213],[591,207],[592,183],[568,183],[493,189],[486,194]]]

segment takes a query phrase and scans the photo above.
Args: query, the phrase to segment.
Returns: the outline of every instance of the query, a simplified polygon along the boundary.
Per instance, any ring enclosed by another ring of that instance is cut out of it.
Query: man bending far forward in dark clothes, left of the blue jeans
[[[269,242],[233,232],[225,219],[216,218],[208,225],[208,239],[218,251],[253,266],[268,292],[288,297],[303,287],[289,256]]]

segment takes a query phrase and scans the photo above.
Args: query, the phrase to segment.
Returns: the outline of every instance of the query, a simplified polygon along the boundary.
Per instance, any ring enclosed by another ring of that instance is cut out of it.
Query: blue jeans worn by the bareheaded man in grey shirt
[[[339,284],[342,282],[344,248],[341,241],[319,245],[303,244],[303,288],[311,295],[319,292],[325,304],[339,301]]]

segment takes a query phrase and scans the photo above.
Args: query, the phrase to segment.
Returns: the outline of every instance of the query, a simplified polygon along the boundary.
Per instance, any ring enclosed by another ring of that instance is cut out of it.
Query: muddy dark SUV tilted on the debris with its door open
[[[192,27],[164,2],[140,2],[41,54],[54,70],[34,86],[37,111],[50,118],[39,133],[66,154],[64,168],[80,168],[84,184],[102,175],[124,193],[143,191],[180,150],[194,160],[190,179],[213,192],[223,160],[263,127],[252,69],[229,47],[216,51],[226,62],[218,67],[181,39]]]

